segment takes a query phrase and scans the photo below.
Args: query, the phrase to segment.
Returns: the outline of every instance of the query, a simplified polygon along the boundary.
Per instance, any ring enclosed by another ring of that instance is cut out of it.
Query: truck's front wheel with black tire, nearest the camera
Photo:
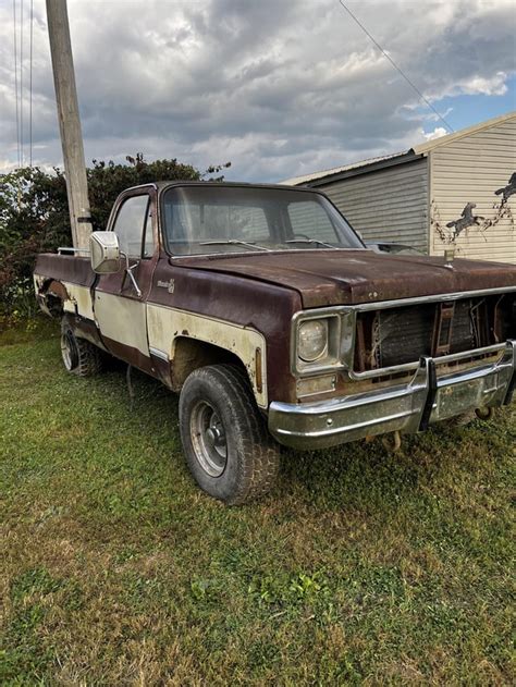
[[[180,396],[180,431],[189,470],[210,496],[236,505],[273,486],[279,446],[239,368],[213,365],[192,372]]]

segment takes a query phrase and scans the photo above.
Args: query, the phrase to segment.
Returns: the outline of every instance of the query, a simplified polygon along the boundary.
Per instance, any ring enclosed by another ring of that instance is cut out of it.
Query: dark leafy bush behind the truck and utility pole
[[[230,163],[200,172],[177,160],[146,162],[142,154],[127,164],[94,160],[87,170],[91,224],[106,229],[116,196],[130,186],[156,181],[222,181]],[[213,176],[214,175],[214,176]],[[64,173],[38,167],[0,174],[0,317],[3,321],[35,312],[32,272],[36,255],[72,244]]]

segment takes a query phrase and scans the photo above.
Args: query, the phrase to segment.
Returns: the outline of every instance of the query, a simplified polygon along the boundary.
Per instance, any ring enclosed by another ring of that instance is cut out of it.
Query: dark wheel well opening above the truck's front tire
[[[249,379],[245,365],[242,363],[241,358],[234,353],[231,353],[231,351],[226,351],[225,348],[205,341],[199,341],[198,339],[179,336],[174,341],[171,365],[172,389],[179,391],[188,375],[199,367],[217,365],[219,363],[228,363],[239,367],[244,370],[247,379]]]

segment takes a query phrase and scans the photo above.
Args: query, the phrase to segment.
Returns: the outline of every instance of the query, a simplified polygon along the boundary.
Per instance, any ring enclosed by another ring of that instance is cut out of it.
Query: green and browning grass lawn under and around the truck
[[[516,409],[285,452],[229,508],[183,463],[177,400],[78,379],[56,329],[0,347],[0,684],[514,684]]]

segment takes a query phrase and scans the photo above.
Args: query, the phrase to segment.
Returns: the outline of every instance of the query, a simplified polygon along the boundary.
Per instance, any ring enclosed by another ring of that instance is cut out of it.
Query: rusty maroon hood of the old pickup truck
[[[390,256],[372,250],[192,257],[182,259],[181,265],[294,289],[305,308],[516,285],[515,265],[455,259],[450,268],[440,257]]]

